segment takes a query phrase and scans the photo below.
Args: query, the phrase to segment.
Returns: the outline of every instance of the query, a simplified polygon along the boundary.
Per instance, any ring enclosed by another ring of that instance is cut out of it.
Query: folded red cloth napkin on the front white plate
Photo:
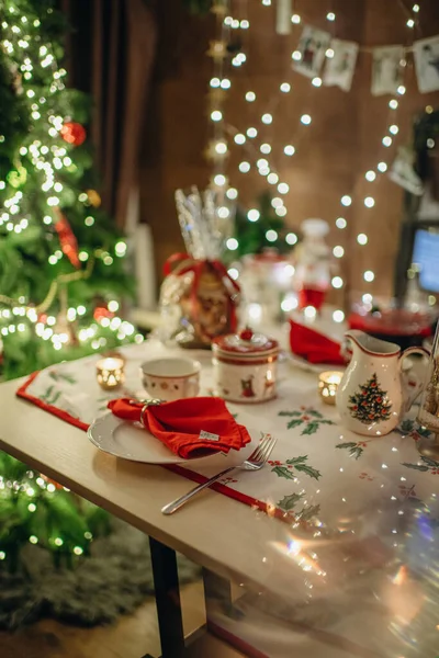
[[[128,398],[111,400],[109,409],[124,420],[140,421],[143,404]],[[224,400],[196,397],[161,402],[146,408],[145,428],[183,460],[217,452],[240,450],[251,441],[244,426],[236,422]],[[202,436],[201,432],[213,436]],[[217,439],[216,439],[217,438]]]

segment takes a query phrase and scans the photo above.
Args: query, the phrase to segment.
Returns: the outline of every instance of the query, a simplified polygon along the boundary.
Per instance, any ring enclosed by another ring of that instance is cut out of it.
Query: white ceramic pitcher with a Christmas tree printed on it
[[[379,436],[391,432],[420,393],[421,384],[403,377],[405,356],[429,356],[424,348],[401,348],[352,329],[345,333],[352,349],[337,392],[337,409],[342,423],[357,434]]]

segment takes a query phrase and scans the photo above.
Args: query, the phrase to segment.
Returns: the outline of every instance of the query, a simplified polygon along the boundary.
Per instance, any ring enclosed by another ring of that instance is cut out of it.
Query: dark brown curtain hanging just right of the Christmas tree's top
[[[105,209],[122,228],[138,186],[157,29],[145,0],[61,0],[71,24],[70,84],[91,94],[91,137]]]

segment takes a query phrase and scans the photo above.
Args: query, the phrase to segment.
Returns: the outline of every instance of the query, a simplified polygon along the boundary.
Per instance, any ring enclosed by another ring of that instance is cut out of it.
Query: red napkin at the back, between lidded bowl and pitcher
[[[346,364],[339,342],[293,320],[290,320],[290,348],[294,354],[309,363]]]

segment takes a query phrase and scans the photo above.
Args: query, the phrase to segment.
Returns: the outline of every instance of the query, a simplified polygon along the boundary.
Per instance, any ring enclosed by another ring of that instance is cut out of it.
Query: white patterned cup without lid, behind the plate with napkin
[[[192,359],[151,359],[140,365],[142,383],[153,398],[168,402],[195,397],[200,392],[200,363]]]

